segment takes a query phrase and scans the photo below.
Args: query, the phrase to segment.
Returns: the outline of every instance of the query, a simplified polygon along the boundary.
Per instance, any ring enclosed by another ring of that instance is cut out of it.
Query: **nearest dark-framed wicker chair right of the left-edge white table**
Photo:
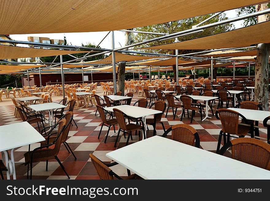
[[[33,163],[40,162],[40,161],[47,161],[50,159],[56,159],[56,161],[59,163],[61,168],[64,170],[68,179],[70,179],[64,166],[62,165],[61,161],[57,157],[57,154],[59,153],[60,146],[61,146],[61,137],[62,137],[62,134],[65,130],[66,124],[67,124],[66,119],[61,119],[59,121],[57,137],[55,138],[55,140],[52,143],[49,143],[50,138],[48,136],[48,138],[47,138],[48,143],[46,145],[37,147],[33,151],[28,151],[24,154],[25,166],[27,165],[27,178],[29,175],[29,165],[30,165],[30,179],[32,179]],[[54,145],[53,148],[51,148],[52,145]]]

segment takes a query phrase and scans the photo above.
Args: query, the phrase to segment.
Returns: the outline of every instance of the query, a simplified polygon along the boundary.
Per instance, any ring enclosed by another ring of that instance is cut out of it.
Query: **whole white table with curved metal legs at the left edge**
[[[10,175],[13,175],[13,179],[16,179],[14,148],[45,140],[45,138],[26,121],[0,126],[0,138],[0,151],[2,152],[2,158],[3,155],[5,155],[8,169],[6,173],[7,179],[10,179]],[[8,150],[10,150],[10,157]]]

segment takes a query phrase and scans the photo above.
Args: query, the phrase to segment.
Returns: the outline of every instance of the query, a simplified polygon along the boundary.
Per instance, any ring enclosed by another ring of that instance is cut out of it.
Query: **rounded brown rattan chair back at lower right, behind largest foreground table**
[[[270,145],[254,138],[237,138],[226,143],[218,152],[223,155],[231,148],[232,158],[270,170]]]

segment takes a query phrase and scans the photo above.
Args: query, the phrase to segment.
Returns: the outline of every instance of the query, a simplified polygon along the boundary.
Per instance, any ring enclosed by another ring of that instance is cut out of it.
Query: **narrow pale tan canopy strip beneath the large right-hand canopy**
[[[228,51],[216,51],[210,52],[204,55],[197,55],[197,56],[214,56],[214,57],[238,57],[238,56],[257,56],[257,50],[251,51],[239,51],[239,50],[228,50]]]

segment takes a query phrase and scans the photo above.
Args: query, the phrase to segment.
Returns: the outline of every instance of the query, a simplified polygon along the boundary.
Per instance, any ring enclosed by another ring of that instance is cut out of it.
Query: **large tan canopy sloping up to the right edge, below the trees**
[[[204,50],[249,47],[253,44],[270,43],[269,26],[270,21],[266,21],[212,36],[141,49]]]

